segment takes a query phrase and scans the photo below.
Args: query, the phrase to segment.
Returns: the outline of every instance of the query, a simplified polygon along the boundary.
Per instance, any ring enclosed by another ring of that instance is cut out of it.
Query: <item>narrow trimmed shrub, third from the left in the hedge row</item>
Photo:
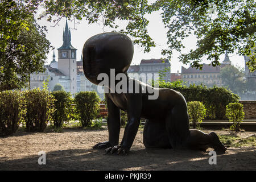
[[[72,97],[71,93],[65,91],[52,92],[55,98],[55,111],[52,115],[53,125],[56,128],[62,127],[64,122],[68,122],[71,113]]]

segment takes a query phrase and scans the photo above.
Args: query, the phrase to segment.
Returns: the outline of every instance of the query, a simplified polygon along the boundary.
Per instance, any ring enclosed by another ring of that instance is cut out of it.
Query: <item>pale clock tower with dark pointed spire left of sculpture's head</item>
[[[71,33],[66,19],[65,29],[63,30],[63,45],[58,50],[58,69],[70,79],[70,92],[75,94],[77,91],[77,72],[76,72],[76,51],[71,45]]]

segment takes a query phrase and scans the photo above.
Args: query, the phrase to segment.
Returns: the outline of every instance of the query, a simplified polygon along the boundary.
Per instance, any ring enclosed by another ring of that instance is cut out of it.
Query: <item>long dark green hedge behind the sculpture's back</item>
[[[239,97],[223,87],[207,88],[203,85],[182,85],[177,82],[159,82],[159,88],[174,89],[185,97],[187,102],[200,101],[207,109],[207,119],[224,119],[226,105],[238,102]]]

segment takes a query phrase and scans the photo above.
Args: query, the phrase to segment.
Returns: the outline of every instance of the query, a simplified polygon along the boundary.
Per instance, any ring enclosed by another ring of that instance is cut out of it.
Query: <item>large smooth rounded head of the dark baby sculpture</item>
[[[89,38],[82,49],[82,62],[86,78],[98,85],[100,73],[110,77],[110,69],[115,73],[126,73],[133,59],[133,42],[129,37],[117,32],[97,34]]]

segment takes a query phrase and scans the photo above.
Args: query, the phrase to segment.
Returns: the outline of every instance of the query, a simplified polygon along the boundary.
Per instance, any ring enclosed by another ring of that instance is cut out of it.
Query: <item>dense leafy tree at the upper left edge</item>
[[[0,91],[28,86],[31,73],[44,71],[50,48],[46,27],[34,20],[36,7],[20,2],[0,1]]]

